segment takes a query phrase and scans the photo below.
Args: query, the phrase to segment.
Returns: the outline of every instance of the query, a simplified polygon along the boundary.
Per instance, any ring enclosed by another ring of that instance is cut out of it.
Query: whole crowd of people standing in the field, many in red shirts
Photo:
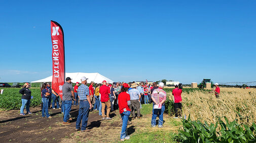
[[[114,82],[112,85],[106,81],[102,81],[101,84],[90,83],[87,86],[87,78],[81,78],[80,83],[76,83],[75,87],[72,87],[69,77],[66,78],[66,82],[62,86],[62,99],[59,95],[51,89],[49,83],[44,83],[41,87],[42,96],[42,117],[51,118],[48,108],[52,104],[52,109],[60,109],[63,113],[62,125],[70,125],[72,118],[69,115],[71,106],[79,105],[79,114],[77,116],[76,131],[89,132],[87,129],[87,122],[90,110],[98,110],[99,115],[102,116],[102,120],[111,120],[109,113],[115,109],[119,109],[119,113],[122,118],[122,131],[121,140],[129,139],[127,135],[127,124],[130,123],[129,117],[131,114],[131,120],[136,118],[135,111],[137,112],[137,118],[142,118],[140,114],[141,104],[153,103],[151,126],[156,127],[156,118],[159,117],[158,127],[163,127],[163,113],[165,110],[166,92],[163,90],[164,83],[120,83]],[[215,95],[220,94],[220,88],[215,84]],[[28,89],[29,84],[25,83],[24,87],[20,90],[22,94],[22,106],[20,108],[20,115],[24,114],[24,107],[26,106],[27,114],[31,114],[29,111],[29,104],[31,99],[31,91]],[[174,118],[181,118],[182,115],[182,89],[175,85],[175,89],[172,90],[174,96]],[[73,102],[72,102],[73,101]],[[55,108],[56,103],[56,108]],[[82,121],[82,124],[81,124]]]

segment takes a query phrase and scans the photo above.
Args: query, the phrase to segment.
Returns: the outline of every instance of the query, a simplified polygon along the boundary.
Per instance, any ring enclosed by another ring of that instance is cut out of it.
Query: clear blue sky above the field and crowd
[[[50,21],[66,72],[113,81],[256,81],[256,1],[1,1],[0,82],[52,74]]]

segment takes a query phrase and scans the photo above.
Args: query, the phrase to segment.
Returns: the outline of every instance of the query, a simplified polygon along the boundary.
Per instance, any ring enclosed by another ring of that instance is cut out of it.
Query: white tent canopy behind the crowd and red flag
[[[102,81],[106,81],[107,83],[113,83],[114,81],[100,75],[99,73],[65,73],[65,78],[70,77],[72,83],[79,82],[81,83],[81,78],[86,77],[87,83],[93,81],[94,83],[102,83]],[[52,82],[52,76],[47,77],[45,79],[33,81],[31,83],[50,83]]]

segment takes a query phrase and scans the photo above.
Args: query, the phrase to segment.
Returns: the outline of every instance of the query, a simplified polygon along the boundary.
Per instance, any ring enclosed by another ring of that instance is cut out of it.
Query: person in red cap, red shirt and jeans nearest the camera
[[[131,100],[130,100],[130,95],[127,93],[128,89],[129,89],[129,85],[124,83],[121,89],[121,93],[118,96],[119,113],[123,120],[121,137],[120,137],[121,141],[124,141],[124,139],[130,139],[130,137],[127,136],[127,132],[126,132],[128,119],[131,114],[131,110],[129,107],[131,105]]]

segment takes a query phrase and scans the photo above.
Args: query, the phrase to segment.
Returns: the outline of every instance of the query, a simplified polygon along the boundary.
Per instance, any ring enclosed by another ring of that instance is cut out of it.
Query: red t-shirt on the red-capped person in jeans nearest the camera
[[[126,92],[121,92],[118,95],[118,106],[119,106],[119,113],[123,113],[124,109],[126,108],[126,111],[131,111],[129,108],[127,101],[130,101],[130,95]]]

